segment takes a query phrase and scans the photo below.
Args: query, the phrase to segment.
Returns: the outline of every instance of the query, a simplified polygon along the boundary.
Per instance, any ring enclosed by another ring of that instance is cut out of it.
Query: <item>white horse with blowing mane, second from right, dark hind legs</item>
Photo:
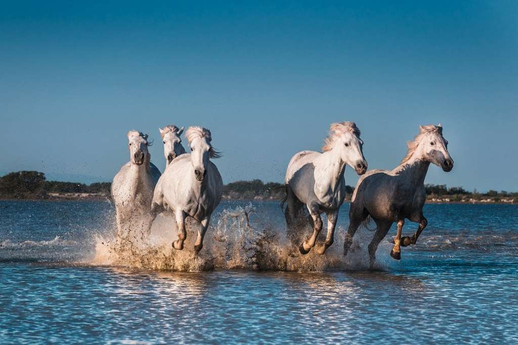
[[[289,236],[304,222],[303,206],[306,205],[313,220],[313,234],[299,246],[302,254],[307,254],[315,245],[316,237],[322,229],[320,214],[327,215],[327,236],[318,253],[324,254],[333,244],[338,211],[346,196],[344,171],[350,165],[358,175],[367,170],[363,156],[363,141],[354,122],[333,123],[329,136],[322,148],[323,153],[301,151],[290,161],[284,184],[287,202],[285,217]]]

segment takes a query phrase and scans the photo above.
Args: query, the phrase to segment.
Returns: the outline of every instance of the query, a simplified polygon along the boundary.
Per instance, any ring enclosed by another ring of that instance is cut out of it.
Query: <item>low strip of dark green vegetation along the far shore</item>
[[[107,199],[110,197],[110,182],[90,185],[75,182],[47,181],[45,174],[37,171],[18,171],[0,177],[0,199]],[[462,187],[425,185],[430,202],[518,202],[518,192],[490,190],[486,193],[467,191]],[[354,188],[347,186],[346,200],[350,200]],[[284,198],[284,185],[261,180],[236,181],[223,187],[225,199],[270,199]]]

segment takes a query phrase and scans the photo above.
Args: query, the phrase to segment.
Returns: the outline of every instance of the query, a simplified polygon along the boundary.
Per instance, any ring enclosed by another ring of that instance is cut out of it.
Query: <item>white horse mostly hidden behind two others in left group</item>
[[[183,127],[178,128],[175,125],[168,125],[163,129],[159,128],[159,131],[160,136],[162,137],[162,143],[164,144],[165,173],[171,162],[176,157],[185,153],[185,148],[183,148],[182,140],[180,138],[180,134],[183,132]],[[164,175],[160,176],[159,182],[156,183],[156,187],[153,192],[154,202],[151,203],[151,214],[153,215],[153,220],[157,214],[164,211],[164,203],[162,199],[163,176]]]

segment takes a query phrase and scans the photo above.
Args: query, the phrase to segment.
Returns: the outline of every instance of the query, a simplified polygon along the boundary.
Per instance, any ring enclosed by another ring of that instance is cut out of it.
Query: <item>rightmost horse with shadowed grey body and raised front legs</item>
[[[442,136],[442,126],[419,126],[419,134],[408,143],[407,155],[391,171],[371,170],[362,176],[353,193],[349,210],[349,227],[343,243],[346,256],[358,226],[372,218],[376,233],[368,246],[370,268],[376,260],[376,250],[392,224],[397,223],[397,233],[391,256],[401,259],[401,246],[415,244],[428,221],[423,215],[426,201],[424,180],[430,163],[449,172],[453,160],[448,153],[448,141]],[[405,219],[418,223],[411,237],[401,237]]]

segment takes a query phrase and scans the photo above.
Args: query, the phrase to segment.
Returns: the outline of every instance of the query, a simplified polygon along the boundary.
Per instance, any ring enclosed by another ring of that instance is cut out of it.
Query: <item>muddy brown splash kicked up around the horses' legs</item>
[[[90,264],[171,271],[246,269],[307,272],[368,268],[367,253],[356,242],[350,254],[343,257],[343,228],[336,229],[335,244],[325,255],[319,255],[315,250],[301,255],[298,244],[294,246],[286,239],[283,226],[272,223],[251,203],[225,209],[212,217],[204,247],[195,253],[193,246],[198,224],[194,219],[188,218],[186,221],[187,239],[184,249],[177,251],[171,246],[172,241],[177,239],[176,223],[170,216],[161,216],[155,220],[149,238],[136,234],[121,238],[97,235],[95,256]],[[322,243],[325,231],[321,232],[318,245]],[[365,236],[372,236],[368,230],[364,232]],[[310,233],[311,229],[308,228],[301,234],[309,236]],[[357,234],[359,242],[366,241],[363,237],[361,233]],[[379,252],[388,253],[389,246],[389,243],[380,245]],[[381,263],[378,268],[384,269],[386,260],[387,256],[378,255]]]

